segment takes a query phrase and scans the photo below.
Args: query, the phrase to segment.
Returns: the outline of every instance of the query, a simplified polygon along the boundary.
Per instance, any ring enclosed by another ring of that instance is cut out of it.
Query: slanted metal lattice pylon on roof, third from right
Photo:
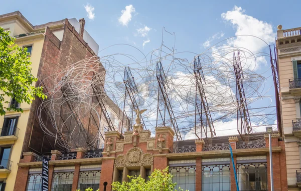
[[[210,107],[208,105],[205,89],[203,86],[203,83],[206,83],[206,80],[205,80],[205,76],[203,73],[203,69],[202,69],[202,65],[201,65],[199,56],[194,58],[194,76],[195,76],[195,80],[196,80],[195,114],[196,115],[198,114],[200,117],[201,129],[202,128],[204,129],[206,138],[208,137],[208,133],[207,133],[208,128],[207,127],[209,127],[211,137],[214,137],[214,136],[216,136],[216,133],[215,133],[214,124],[213,124],[213,120],[212,120],[211,113],[210,113]],[[200,100],[198,100],[198,98],[197,98],[198,95],[201,98]],[[206,116],[206,124],[204,124],[204,122],[203,122],[203,111]],[[196,133],[196,126],[197,126],[196,119],[197,118],[195,117],[195,134],[198,138],[202,138],[202,130],[201,130],[201,136],[198,136],[198,134]]]

